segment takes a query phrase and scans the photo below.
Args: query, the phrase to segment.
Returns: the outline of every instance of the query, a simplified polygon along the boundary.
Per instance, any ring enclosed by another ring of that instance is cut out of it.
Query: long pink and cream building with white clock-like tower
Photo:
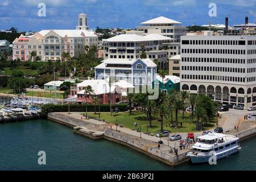
[[[77,30],[42,30],[31,36],[16,38],[13,59],[27,61],[34,51],[43,61],[62,60],[63,52],[75,57],[85,52],[85,46],[93,45],[98,47],[98,36],[88,30],[86,15],[80,14]]]

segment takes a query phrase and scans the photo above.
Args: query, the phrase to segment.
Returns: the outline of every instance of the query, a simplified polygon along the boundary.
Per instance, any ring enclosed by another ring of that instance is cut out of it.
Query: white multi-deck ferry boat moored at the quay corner
[[[193,145],[193,151],[188,152],[187,156],[192,163],[208,163],[209,160],[225,158],[238,152],[239,138],[234,135],[225,135],[213,133],[203,135],[197,138],[197,142]]]

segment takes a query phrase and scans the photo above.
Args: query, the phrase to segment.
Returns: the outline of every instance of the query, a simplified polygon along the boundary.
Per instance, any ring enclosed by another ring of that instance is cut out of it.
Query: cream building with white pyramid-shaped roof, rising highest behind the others
[[[180,36],[186,35],[186,27],[182,26],[182,23],[163,16],[141,24],[142,26],[137,27],[137,31],[143,31],[144,35],[159,34],[173,39],[173,42],[180,42]]]

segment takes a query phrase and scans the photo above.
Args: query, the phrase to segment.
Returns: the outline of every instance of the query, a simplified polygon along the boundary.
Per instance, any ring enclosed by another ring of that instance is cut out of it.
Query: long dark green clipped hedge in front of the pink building
[[[112,105],[112,109],[115,109],[115,107],[118,107],[118,111],[123,112],[127,111],[127,104],[118,104],[118,105]],[[71,112],[85,112],[86,105],[70,105],[69,110]],[[88,112],[94,112],[95,106],[89,105],[87,106]],[[98,111],[98,105],[96,106],[96,111]],[[100,111],[101,112],[110,112],[110,105],[100,105]],[[54,105],[54,104],[46,104],[42,106],[41,110],[42,114],[48,114],[48,113],[58,113],[58,112],[68,112],[68,105]]]

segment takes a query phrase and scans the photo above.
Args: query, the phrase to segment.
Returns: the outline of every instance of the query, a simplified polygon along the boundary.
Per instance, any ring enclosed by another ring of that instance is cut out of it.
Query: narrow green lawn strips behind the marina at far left
[[[13,90],[11,89],[7,89],[7,88],[0,88],[0,93],[9,93],[9,94],[14,94]],[[16,93],[18,94],[18,93]],[[34,96],[34,97],[46,97],[46,98],[54,98],[55,97],[55,93],[54,92],[32,92],[32,91],[28,91],[26,92],[26,96]],[[59,99],[63,98],[63,95],[61,95],[61,93],[56,93],[56,97]]]

